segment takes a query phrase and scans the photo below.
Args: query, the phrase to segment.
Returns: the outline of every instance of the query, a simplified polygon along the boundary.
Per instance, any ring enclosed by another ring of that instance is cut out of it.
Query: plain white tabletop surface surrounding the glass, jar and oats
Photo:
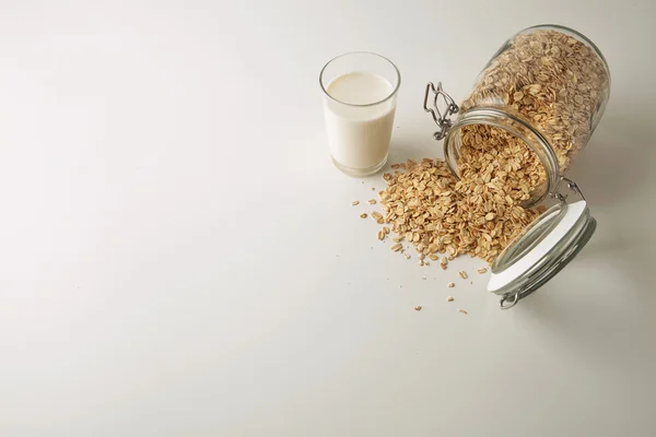
[[[652,2],[89,3],[0,2],[0,435],[654,435]],[[358,217],[318,72],[388,56],[391,161],[437,155],[425,83],[542,22],[612,71],[569,173],[599,226],[501,311]]]

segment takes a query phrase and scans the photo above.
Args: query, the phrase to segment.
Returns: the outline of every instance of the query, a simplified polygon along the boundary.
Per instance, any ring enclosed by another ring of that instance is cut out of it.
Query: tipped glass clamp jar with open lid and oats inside
[[[488,291],[502,296],[502,308],[553,277],[594,234],[597,224],[585,198],[564,174],[589,141],[609,94],[601,51],[558,25],[511,37],[459,107],[441,84],[427,84],[424,109],[440,127],[434,138],[444,139],[445,161],[457,177],[478,178],[491,189],[502,178],[524,206],[548,196],[558,200],[492,264]],[[577,200],[567,202],[571,192]]]

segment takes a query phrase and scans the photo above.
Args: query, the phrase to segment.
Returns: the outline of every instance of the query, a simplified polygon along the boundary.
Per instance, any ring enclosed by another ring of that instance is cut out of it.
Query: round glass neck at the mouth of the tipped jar
[[[560,167],[558,157],[549,144],[549,141],[532,126],[519,117],[496,107],[477,106],[461,113],[456,122],[448,130],[444,139],[444,158],[456,177],[458,172],[458,158],[462,144],[462,128],[472,125],[485,125],[503,129],[512,135],[522,140],[540,160],[547,175],[547,184],[540,192],[532,193],[525,206],[531,206],[541,202],[547,194],[558,189],[560,181]]]

